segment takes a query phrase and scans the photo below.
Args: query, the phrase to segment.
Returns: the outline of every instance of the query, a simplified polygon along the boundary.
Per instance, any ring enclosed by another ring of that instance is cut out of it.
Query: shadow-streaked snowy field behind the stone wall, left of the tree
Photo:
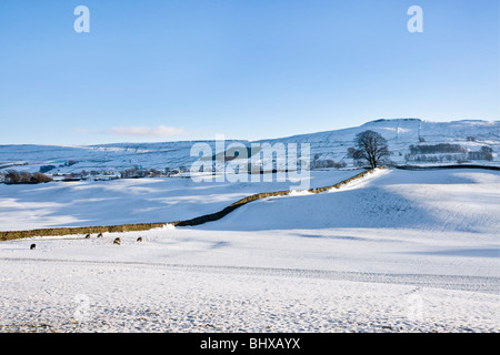
[[[310,187],[332,185],[361,170],[313,171]],[[293,181],[193,182],[188,178],[0,184],[0,231],[174,222],[213,213],[248,195],[297,189]],[[261,178],[262,176],[262,178]],[[249,179],[250,180],[250,179]]]

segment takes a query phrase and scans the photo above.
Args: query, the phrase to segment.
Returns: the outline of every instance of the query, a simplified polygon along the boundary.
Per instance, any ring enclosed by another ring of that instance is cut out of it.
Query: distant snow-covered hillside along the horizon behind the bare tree
[[[289,143],[310,144],[312,168],[338,166],[333,163],[352,166],[348,158],[348,148],[353,146],[356,134],[366,130],[379,132],[389,142],[391,161],[397,164],[457,163],[471,161],[476,164],[500,165],[500,121],[454,121],[427,122],[419,119],[377,120],[363,125],[293,135],[258,142],[240,141],[249,146],[251,143]],[[164,143],[116,143],[84,146],[56,145],[0,145],[0,172],[8,169],[38,172],[43,165],[53,165],[50,173],[71,173],[86,171],[119,172],[130,168],[164,170],[187,169],[199,159],[190,156],[196,141]],[[203,141],[216,152],[214,141]],[[234,141],[226,141],[226,146]],[[428,149],[431,153],[420,151],[419,145],[457,144],[459,151],[446,152]],[[413,150],[410,149],[413,145]],[[69,163],[71,162],[71,163]],[[281,166],[278,166],[281,168]]]

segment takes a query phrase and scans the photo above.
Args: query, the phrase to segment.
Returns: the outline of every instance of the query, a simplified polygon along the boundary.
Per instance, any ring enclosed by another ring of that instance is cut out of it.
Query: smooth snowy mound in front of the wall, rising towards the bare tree
[[[339,190],[268,197],[203,229],[414,229],[496,235],[500,175],[488,170],[377,170]],[[478,236],[479,237],[479,236]],[[491,239],[491,242],[498,241]],[[498,256],[498,251],[497,251]]]

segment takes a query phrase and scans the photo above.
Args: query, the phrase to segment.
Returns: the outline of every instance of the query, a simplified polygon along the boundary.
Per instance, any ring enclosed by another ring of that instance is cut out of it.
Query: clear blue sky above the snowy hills
[[[0,144],[499,120],[499,37],[498,0],[0,0]]]

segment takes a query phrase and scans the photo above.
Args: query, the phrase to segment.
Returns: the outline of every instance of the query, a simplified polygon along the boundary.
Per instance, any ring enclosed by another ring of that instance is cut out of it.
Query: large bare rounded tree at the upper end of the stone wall
[[[390,155],[387,140],[373,131],[358,133],[354,144],[356,148],[348,150],[348,155],[357,161],[368,162],[371,169],[379,166],[383,159]]]

